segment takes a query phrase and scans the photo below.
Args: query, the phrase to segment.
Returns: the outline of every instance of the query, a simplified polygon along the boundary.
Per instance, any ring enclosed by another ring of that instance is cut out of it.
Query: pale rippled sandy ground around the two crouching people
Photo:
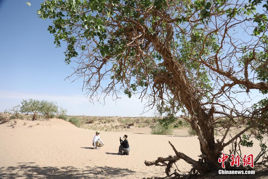
[[[27,123],[27,124],[26,124]],[[130,154],[117,154],[119,137],[129,137]],[[197,160],[201,154],[197,136],[150,135],[135,132],[102,132],[104,146],[93,149],[95,131],[77,128],[61,119],[18,120],[15,128],[0,125],[0,178],[144,178],[165,176],[165,168],[147,167],[144,160],[174,155],[168,141],[179,152]],[[260,151],[243,148],[242,154]],[[257,144],[257,145],[256,145]],[[229,148],[225,148],[228,153]],[[191,166],[180,160],[181,172]],[[267,174],[268,176],[268,174]]]

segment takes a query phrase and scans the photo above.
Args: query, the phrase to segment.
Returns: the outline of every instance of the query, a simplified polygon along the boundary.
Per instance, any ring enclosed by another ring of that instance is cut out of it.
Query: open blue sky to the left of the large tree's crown
[[[30,7],[26,1],[0,0],[0,111],[33,98],[55,101],[69,115],[141,116],[144,102],[135,97],[122,94],[116,102],[108,97],[104,106],[93,105],[80,90],[82,81],[64,81],[73,72],[72,64],[64,63],[65,46],[55,48],[50,21],[38,18],[42,1],[30,1]]]

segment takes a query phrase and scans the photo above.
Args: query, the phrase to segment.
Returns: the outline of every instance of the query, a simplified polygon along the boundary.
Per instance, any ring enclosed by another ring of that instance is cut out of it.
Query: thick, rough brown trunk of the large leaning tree
[[[181,101],[189,114],[192,128],[197,132],[200,142],[200,150],[202,159],[199,163],[209,167],[205,171],[213,170],[219,167],[218,158],[223,147],[215,143],[213,113],[214,108],[210,109],[207,114],[201,106],[201,100],[198,98],[195,88],[189,83],[184,71],[184,66],[178,63],[171,53],[170,42],[173,38],[173,29],[170,25],[166,25],[167,35],[164,43],[157,36],[150,36],[155,49],[163,57],[163,65],[166,66],[167,74],[161,74],[155,78],[155,84],[166,84],[169,86],[171,93],[178,101]],[[170,75],[171,74],[171,75]],[[195,163],[196,164],[196,163]],[[194,165],[194,164],[193,164]]]

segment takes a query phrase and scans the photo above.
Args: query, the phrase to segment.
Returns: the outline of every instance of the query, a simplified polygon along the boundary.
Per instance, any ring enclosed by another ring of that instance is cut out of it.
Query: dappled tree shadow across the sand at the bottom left
[[[39,167],[33,162],[18,163],[16,167],[0,167],[0,178],[125,178],[137,174],[124,168],[116,167]],[[143,175],[140,173],[138,175]],[[133,176],[133,178],[135,178]]]

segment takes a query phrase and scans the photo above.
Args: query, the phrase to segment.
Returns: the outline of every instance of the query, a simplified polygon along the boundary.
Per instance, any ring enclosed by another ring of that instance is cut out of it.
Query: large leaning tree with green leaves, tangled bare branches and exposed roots
[[[190,122],[198,161],[171,143],[175,156],[145,161],[165,165],[169,175],[179,159],[193,166],[191,173],[220,167],[224,147],[237,154],[240,145],[252,145],[246,131],[265,150],[267,8],[263,0],[46,0],[37,14],[53,20],[54,44],[66,42],[66,63],[77,63],[71,76],[84,80],[91,100],[138,94],[165,115],[163,125],[178,112]],[[252,94],[262,98],[250,105]],[[242,130],[229,138],[231,125]]]

